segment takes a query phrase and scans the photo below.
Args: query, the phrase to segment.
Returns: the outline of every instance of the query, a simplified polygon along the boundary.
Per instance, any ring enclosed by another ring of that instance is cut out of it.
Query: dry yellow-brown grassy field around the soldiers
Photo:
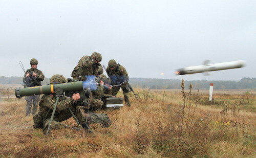
[[[139,99],[130,94],[131,107],[105,111],[110,127],[93,124],[93,133],[61,129],[45,136],[32,128],[26,101],[13,96],[14,87],[0,86],[1,157],[256,156],[256,100],[249,90],[214,91],[209,102],[208,91],[135,88]],[[72,118],[63,124],[76,126]]]

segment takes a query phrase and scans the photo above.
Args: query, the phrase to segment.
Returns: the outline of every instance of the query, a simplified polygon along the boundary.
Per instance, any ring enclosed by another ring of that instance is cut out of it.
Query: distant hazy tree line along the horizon
[[[0,76],[1,84],[22,84],[23,77],[4,77]],[[130,84],[136,87],[151,89],[179,89],[181,80],[173,79],[153,79],[153,78],[130,78]],[[42,85],[50,83],[49,78],[41,82]],[[256,78],[242,78],[240,81],[207,81],[193,80],[185,81],[186,88],[189,83],[193,84],[194,89],[208,89],[210,83],[214,83],[215,89],[254,89],[256,88]]]

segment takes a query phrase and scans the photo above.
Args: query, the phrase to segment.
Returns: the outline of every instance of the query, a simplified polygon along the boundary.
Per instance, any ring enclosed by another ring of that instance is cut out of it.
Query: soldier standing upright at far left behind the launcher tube
[[[38,61],[36,59],[31,59],[30,64],[31,69],[28,69],[23,77],[23,82],[25,83],[24,87],[40,86],[41,81],[45,79],[45,75],[37,69]],[[31,113],[31,108],[32,115],[35,115],[38,107],[38,101],[40,100],[40,96],[27,96],[25,97],[25,100],[27,101],[26,116],[28,116]]]

